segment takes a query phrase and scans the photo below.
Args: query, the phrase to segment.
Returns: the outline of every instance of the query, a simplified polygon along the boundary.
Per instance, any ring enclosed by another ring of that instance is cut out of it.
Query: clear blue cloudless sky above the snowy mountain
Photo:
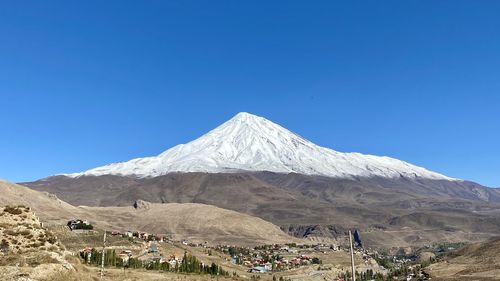
[[[0,178],[156,155],[247,111],[500,186],[500,1],[3,1]]]

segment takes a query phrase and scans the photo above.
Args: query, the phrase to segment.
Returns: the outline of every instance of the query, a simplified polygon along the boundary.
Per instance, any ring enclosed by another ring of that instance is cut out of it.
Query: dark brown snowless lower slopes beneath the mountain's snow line
[[[500,232],[500,193],[466,181],[256,172],[56,176],[23,185],[73,205],[131,206],[136,200],[210,204],[314,241],[341,241],[355,228],[370,247],[478,242]]]

